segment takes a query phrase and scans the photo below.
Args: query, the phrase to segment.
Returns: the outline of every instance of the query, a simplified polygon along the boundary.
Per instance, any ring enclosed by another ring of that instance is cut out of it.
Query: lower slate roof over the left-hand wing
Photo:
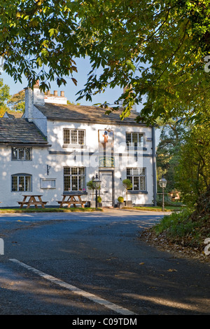
[[[0,118],[0,145],[2,144],[48,146],[48,141],[34,123],[25,119]]]

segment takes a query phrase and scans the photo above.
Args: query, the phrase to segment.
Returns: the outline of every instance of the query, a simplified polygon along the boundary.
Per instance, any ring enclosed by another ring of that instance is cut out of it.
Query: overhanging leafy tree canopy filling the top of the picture
[[[88,56],[92,69],[78,99],[127,86],[116,99],[121,119],[145,97],[139,120],[200,121],[210,93],[209,22],[209,0],[5,0],[0,55],[15,81],[24,74],[43,90],[66,76],[76,84],[76,59]]]

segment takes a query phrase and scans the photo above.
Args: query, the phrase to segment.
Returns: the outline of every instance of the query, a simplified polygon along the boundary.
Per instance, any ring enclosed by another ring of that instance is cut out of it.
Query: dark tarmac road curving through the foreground
[[[0,215],[0,315],[209,315],[209,264],[139,232],[160,213]]]

